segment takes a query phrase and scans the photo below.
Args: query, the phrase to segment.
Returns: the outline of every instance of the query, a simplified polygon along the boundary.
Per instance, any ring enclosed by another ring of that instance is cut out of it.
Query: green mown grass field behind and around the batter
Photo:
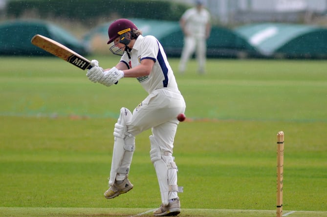
[[[104,68],[119,57],[98,59]],[[147,94],[105,87],[57,58],[0,57],[0,216],[152,216],[160,193],[149,135],[136,138],[131,192],[107,190],[113,125]],[[171,59],[177,69],[178,59]],[[276,216],[276,135],[285,133],[283,212],[327,217],[327,62],[208,59],[175,72],[187,121],[175,138],[181,217]]]

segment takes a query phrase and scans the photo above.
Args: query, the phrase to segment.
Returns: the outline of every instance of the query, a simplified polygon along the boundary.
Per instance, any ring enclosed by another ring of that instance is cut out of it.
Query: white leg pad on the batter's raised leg
[[[126,125],[131,120],[131,112],[127,108],[120,109],[120,116],[117,123]],[[114,138],[113,153],[109,185],[112,186],[115,180],[124,180],[130,171],[131,160],[135,150],[135,137]]]

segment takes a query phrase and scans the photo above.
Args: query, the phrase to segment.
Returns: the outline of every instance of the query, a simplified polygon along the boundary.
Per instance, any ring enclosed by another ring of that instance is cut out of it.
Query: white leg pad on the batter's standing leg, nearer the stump
[[[158,178],[161,201],[166,206],[169,203],[169,199],[177,197],[177,167],[171,153],[161,153],[153,136],[150,136],[150,142],[150,157]]]

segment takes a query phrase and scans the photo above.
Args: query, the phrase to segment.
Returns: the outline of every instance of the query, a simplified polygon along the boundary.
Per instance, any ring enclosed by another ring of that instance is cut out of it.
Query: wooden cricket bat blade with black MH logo
[[[42,35],[35,35],[31,39],[31,43],[56,57],[64,59],[80,69],[85,70],[92,68],[88,59],[53,39],[49,39]]]

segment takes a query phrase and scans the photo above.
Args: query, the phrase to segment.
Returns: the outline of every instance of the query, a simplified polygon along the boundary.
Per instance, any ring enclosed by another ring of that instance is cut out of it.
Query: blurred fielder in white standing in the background
[[[198,73],[205,73],[207,52],[206,39],[210,36],[210,13],[203,6],[203,0],[196,0],[196,7],[184,12],[179,20],[184,33],[184,47],[179,62],[179,72],[184,73],[186,63],[196,51]]]

